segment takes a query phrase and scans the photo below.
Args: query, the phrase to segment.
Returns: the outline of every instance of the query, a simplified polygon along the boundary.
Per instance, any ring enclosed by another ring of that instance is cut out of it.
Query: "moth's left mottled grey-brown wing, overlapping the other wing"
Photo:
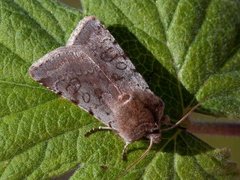
[[[29,69],[34,80],[71,100],[106,125],[113,114],[103,95],[116,99],[118,90],[81,46],[60,47]],[[114,124],[111,124],[114,126]]]

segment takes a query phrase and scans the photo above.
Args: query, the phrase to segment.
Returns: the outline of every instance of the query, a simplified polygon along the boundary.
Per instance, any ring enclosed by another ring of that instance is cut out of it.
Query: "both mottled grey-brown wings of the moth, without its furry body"
[[[120,94],[143,91],[152,95],[114,37],[93,16],[80,21],[65,47],[46,54],[29,72],[115,129],[111,104]]]

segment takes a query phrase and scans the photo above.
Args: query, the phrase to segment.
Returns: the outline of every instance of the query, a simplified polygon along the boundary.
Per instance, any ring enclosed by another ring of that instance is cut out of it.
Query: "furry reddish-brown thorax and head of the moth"
[[[138,94],[129,92],[119,95],[114,107],[119,135],[126,142],[134,142],[151,134],[153,142],[158,143],[160,127],[154,113]]]

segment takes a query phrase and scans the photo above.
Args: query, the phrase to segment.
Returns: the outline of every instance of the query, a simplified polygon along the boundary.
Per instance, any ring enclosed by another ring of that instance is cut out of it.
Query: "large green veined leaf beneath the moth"
[[[151,89],[179,119],[192,102],[204,112],[239,116],[240,3],[237,0],[85,0],[130,56]],[[129,148],[101,123],[34,82],[32,62],[63,46],[83,15],[55,1],[0,1],[0,179],[115,179],[147,143]],[[180,129],[125,174],[126,179],[239,178],[229,151]]]

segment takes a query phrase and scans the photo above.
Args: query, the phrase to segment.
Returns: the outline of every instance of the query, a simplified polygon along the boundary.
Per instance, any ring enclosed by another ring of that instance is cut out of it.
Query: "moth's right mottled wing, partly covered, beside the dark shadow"
[[[78,24],[67,43],[72,45],[84,47],[121,92],[149,89],[114,37],[95,17],[85,17]]]

